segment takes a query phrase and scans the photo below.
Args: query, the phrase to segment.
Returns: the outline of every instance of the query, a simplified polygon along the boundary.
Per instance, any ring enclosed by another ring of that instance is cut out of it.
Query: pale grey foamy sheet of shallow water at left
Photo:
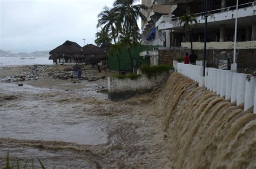
[[[107,141],[104,124],[87,117],[76,102],[83,94],[9,83],[0,83],[0,93],[0,137],[90,145]]]

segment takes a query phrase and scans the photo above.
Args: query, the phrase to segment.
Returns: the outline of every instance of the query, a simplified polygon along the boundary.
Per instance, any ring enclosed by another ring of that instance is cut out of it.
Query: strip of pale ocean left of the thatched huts
[[[18,65],[49,65],[52,64],[52,60],[48,57],[37,58],[21,58],[21,57],[0,57],[0,66],[18,66]]]

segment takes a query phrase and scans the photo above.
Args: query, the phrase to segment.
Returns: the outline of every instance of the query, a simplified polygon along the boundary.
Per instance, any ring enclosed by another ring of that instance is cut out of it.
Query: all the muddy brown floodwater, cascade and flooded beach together
[[[0,167],[256,168],[256,114],[179,73],[111,102],[106,78],[0,83]],[[33,162],[32,162],[33,159]]]

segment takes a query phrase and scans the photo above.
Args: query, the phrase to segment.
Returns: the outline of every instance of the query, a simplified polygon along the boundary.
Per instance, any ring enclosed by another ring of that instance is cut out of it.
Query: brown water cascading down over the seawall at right
[[[172,73],[159,97],[174,168],[256,168],[256,114]]]

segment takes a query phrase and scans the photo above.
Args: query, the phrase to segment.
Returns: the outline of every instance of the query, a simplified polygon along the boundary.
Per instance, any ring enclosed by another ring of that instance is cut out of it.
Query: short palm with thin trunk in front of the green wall
[[[138,45],[139,43],[138,43],[138,40],[137,40],[137,38],[136,39],[134,39],[133,37],[132,37],[132,34],[131,34],[131,32],[122,32],[122,34],[119,36],[120,37],[120,44],[122,45],[122,46],[125,46],[127,49],[128,49],[128,51],[129,51],[129,55],[130,55],[130,60],[131,60],[131,71],[132,71],[132,73],[133,73],[133,58],[132,58],[132,55],[131,55],[131,50],[130,50],[130,48],[132,47],[132,46],[136,46],[136,45]]]

